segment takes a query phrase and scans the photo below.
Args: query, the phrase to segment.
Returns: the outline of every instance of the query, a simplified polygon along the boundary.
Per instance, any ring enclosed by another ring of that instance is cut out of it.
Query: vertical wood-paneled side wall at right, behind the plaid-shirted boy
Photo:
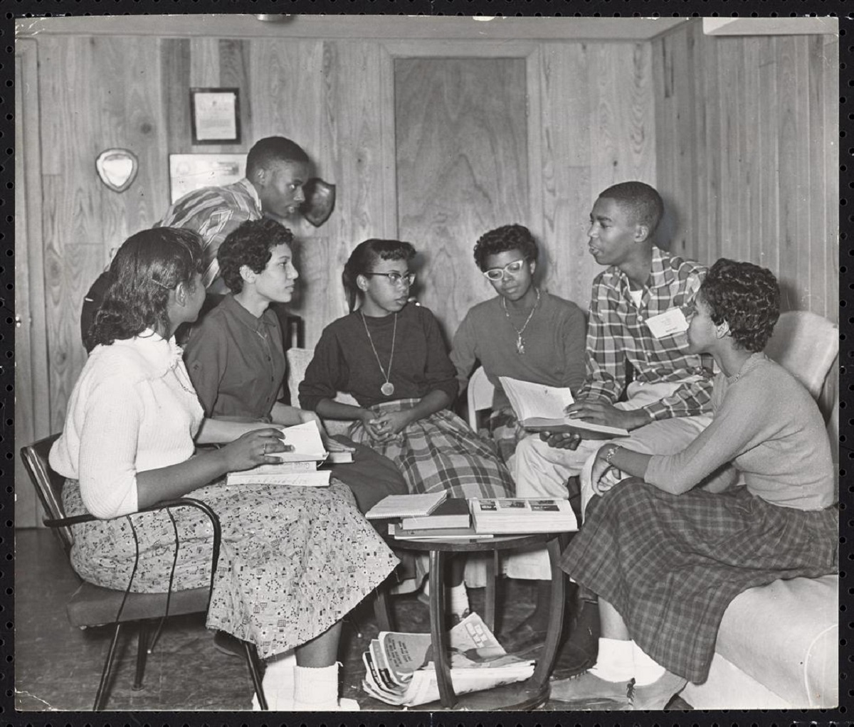
[[[698,20],[652,55],[672,248],[768,267],[784,310],[837,321],[838,37],[710,37]]]

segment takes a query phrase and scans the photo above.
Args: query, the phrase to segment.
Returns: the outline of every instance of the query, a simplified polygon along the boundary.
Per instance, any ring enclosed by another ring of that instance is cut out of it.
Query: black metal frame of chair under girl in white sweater
[[[62,546],[66,553],[70,555],[71,548],[73,545],[73,532],[72,526],[78,525],[83,522],[92,522],[99,520],[94,515],[73,515],[66,516],[64,509],[62,508],[61,497],[57,497],[61,493],[61,486],[64,484],[64,480],[61,478],[59,474],[56,474],[47,462],[47,457],[45,457],[44,452],[50,451],[50,445],[52,445],[56,439],[58,438],[58,434],[54,434],[45,439],[40,439],[38,442],[33,443],[32,445],[27,445],[21,447],[20,449],[20,457],[24,462],[24,466],[26,468],[27,474],[30,475],[30,479],[32,480],[33,486],[35,486],[36,491],[38,493],[38,498],[44,507],[45,513],[50,515],[50,517],[44,519],[44,525],[50,527],[54,532],[56,532],[57,536],[60,538]],[[137,512],[155,512],[158,510],[166,509],[169,513],[170,518],[172,518],[172,513],[170,508],[176,507],[191,507],[198,509],[202,512],[202,514],[208,517],[208,520],[211,522],[213,526],[213,553],[212,553],[212,563],[211,563],[211,579],[210,585],[208,586],[208,598],[204,608],[200,608],[198,613],[207,613],[208,608],[210,607],[210,599],[213,595],[213,582],[216,575],[216,567],[219,562],[219,546],[222,540],[222,530],[219,525],[219,517],[213,512],[207,503],[203,503],[201,500],[196,500],[193,497],[178,497],[172,500],[166,500],[161,503],[156,503],[155,505],[151,505],[146,508],[141,508]],[[127,517],[123,515],[123,517]],[[130,518],[128,518],[130,521]],[[173,519],[174,526],[174,519]],[[134,534],[134,538],[136,538],[136,531],[133,529],[133,525],[131,522],[132,532]],[[178,532],[176,529],[175,533],[175,561],[173,561],[173,573],[174,573],[174,565],[178,559]],[[137,560],[139,557],[138,543],[137,543]],[[133,572],[131,574],[131,579],[127,585],[127,589],[124,592],[124,596],[122,598],[122,602],[119,608],[118,613],[115,616],[114,621],[110,622],[113,629],[113,636],[110,641],[110,645],[107,652],[107,658],[104,660],[104,666],[101,672],[101,680],[98,683],[97,694],[95,695],[95,705],[94,710],[100,711],[102,710],[108,700],[108,684],[110,682],[110,677],[113,673],[114,668],[114,660],[115,660],[115,651],[116,646],[119,642],[119,636],[122,631],[122,627],[126,624],[136,624],[137,625],[137,668],[136,674],[133,681],[133,689],[142,689],[143,688],[143,675],[145,670],[145,662],[148,654],[151,654],[154,651],[155,644],[157,643],[157,639],[160,636],[161,628],[163,623],[167,619],[169,615],[169,602],[172,596],[172,575],[170,575],[169,580],[169,590],[167,592],[167,603],[166,603],[166,611],[161,615],[152,615],[145,619],[126,619],[122,620],[121,616],[125,609],[126,603],[129,600],[134,599],[139,596],[150,596],[150,594],[136,594],[131,592],[131,586],[133,582],[133,577],[136,573],[137,563],[134,563]],[[102,588],[102,587],[99,587]],[[111,589],[102,588],[102,590],[109,591]],[[190,612],[191,613],[191,612]],[[160,619],[160,624],[158,625],[154,637],[151,639],[149,643],[149,632],[148,632],[148,624],[149,621],[154,619]],[[104,625],[100,623],[91,623],[86,626],[97,626]],[[247,666],[249,667],[249,676],[252,678],[252,683],[255,689],[255,693],[258,695],[259,705],[262,710],[267,709],[266,698],[264,695],[264,690],[261,687],[261,677],[260,677],[260,659],[258,657],[257,649],[255,648],[253,643],[250,642],[242,642],[243,648],[245,650],[245,658],[247,662]]]

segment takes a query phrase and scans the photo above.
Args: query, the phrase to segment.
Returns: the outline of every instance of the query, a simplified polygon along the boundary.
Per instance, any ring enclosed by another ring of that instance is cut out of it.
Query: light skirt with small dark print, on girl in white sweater
[[[85,512],[76,480],[67,480],[69,515]],[[347,486],[227,486],[191,491],[219,516],[222,545],[208,628],[255,644],[268,658],[310,641],[342,619],[397,564],[356,509]],[[210,583],[213,528],[192,508],[171,509],[178,529],[173,590]],[[136,513],[73,526],[72,563],[81,578],[125,590],[139,542],[131,590],[165,592],[175,535],[167,512]]]

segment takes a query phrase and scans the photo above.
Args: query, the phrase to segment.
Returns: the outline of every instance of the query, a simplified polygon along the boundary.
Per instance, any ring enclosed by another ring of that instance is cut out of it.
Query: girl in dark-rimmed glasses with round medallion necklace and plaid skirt
[[[352,420],[349,436],[394,461],[411,492],[510,496],[511,475],[492,446],[447,409],[457,382],[438,323],[424,306],[408,305],[414,256],[411,244],[397,240],[356,247],[342,275],[351,312],[320,336],[300,405]],[[334,401],[337,392],[358,405]],[[451,610],[462,616],[468,599],[459,568],[452,579]]]

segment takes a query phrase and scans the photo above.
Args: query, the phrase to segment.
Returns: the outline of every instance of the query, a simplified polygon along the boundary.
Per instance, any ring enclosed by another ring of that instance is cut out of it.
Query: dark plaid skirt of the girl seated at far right
[[[671,495],[630,478],[590,501],[560,566],[610,602],[658,664],[702,683],[734,597],[837,573],[838,543],[835,507],[785,508],[746,487]]]

